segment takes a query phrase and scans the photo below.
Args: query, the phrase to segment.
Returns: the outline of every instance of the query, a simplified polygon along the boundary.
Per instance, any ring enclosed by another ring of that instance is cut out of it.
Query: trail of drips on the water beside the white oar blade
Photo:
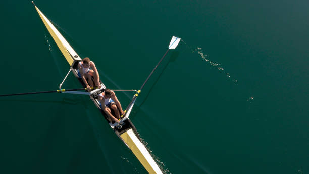
[[[208,57],[207,54],[205,54],[205,53],[203,52],[202,48],[200,48],[200,47],[192,48],[192,47],[190,47],[185,41],[183,41],[183,40],[181,40],[181,41],[184,43],[184,45],[185,45],[187,48],[189,48],[189,49],[191,50],[192,53],[196,52],[203,60],[205,60],[206,62],[208,62],[209,65],[211,65],[211,66],[213,66],[213,67],[216,67],[219,71],[221,71],[222,73],[225,73],[227,78],[231,79],[231,80],[232,80],[233,82],[235,82],[235,83],[238,82],[237,79],[231,78],[230,73],[225,72],[224,68],[221,66],[220,63],[217,63],[217,62],[214,62],[214,61],[209,60],[209,59],[207,58],[207,57]]]

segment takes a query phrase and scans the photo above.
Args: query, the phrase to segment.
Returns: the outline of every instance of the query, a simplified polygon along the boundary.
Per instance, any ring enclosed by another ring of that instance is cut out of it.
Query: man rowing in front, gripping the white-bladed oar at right
[[[110,89],[105,89],[103,93],[99,94],[98,100],[101,103],[102,110],[111,118],[111,121],[119,123],[118,119],[120,119],[120,113],[124,115],[125,112],[122,110],[115,92]],[[114,115],[112,111],[114,111]]]

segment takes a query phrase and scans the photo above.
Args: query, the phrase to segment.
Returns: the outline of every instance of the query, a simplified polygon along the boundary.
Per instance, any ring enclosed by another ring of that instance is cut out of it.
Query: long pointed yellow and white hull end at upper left
[[[52,35],[55,40],[57,46],[60,51],[67,59],[70,66],[73,66],[75,60],[81,60],[77,53],[73,50],[73,48],[69,45],[66,39],[60,34],[60,32],[56,29],[56,27],[46,18],[46,16],[35,6],[36,11],[40,15],[44,25],[49,31],[50,35]]]

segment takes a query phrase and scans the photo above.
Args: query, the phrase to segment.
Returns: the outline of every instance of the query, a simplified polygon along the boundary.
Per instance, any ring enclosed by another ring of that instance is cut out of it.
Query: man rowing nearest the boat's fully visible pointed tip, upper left
[[[78,62],[77,75],[84,81],[88,91],[90,91],[91,87],[94,87],[92,77],[94,79],[95,86],[97,88],[101,88],[100,78],[95,64],[90,61],[88,57]]]

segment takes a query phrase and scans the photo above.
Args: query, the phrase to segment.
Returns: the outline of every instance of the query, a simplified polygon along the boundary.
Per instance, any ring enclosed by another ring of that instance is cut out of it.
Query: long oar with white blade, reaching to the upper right
[[[155,72],[155,70],[157,69],[158,65],[161,63],[161,61],[163,60],[163,58],[166,56],[166,54],[170,51],[170,49],[175,49],[178,46],[178,43],[180,41],[181,38],[179,37],[172,37],[172,40],[170,42],[169,48],[168,50],[165,52],[165,54],[163,55],[163,57],[161,58],[161,60],[159,61],[159,63],[156,65],[155,68],[153,68],[153,70],[151,71],[151,73],[149,74],[149,76],[147,77],[147,79],[145,80],[145,82],[143,83],[143,85],[140,87],[140,89],[137,91],[137,93],[134,95],[133,99],[131,100],[130,104],[128,105],[128,107],[126,108],[126,110],[124,110],[124,115],[121,115],[121,120],[119,119],[119,124],[122,123],[124,120],[122,119],[126,113],[127,110],[131,107],[131,105],[133,104],[133,102],[135,101],[135,99],[137,98],[138,94],[141,92],[141,90],[144,88],[144,85],[146,84],[146,82],[149,80],[150,76],[153,74],[153,72]]]

